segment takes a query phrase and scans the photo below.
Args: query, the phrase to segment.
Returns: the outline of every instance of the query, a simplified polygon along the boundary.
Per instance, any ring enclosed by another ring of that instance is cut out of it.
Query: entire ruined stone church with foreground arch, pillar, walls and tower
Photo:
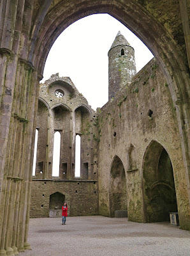
[[[1,1],[0,255],[31,248],[29,217],[59,216],[64,201],[69,216],[122,211],[157,222],[178,212],[190,230],[188,4]],[[39,82],[57,36],[105,12],[155,58],[136,74],[133,45],[119,32],[108,51],[109,100],[94,111],[69,77]]]

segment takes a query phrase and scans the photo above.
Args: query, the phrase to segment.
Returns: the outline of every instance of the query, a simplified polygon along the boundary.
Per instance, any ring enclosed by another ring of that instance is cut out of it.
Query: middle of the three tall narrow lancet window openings
[[[53,154],[53,166],[52,176],[59,176],[59,162],[60,162],[60,148],[61,148],[61,134],[60,132],[54,133],[54,154]]]

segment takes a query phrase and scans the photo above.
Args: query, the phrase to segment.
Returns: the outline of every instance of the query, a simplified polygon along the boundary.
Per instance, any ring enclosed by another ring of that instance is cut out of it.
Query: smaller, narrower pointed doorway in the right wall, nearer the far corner
[[[110,170],[110,217],[115,211],[127,211],[126,173],[124,165],[118,156],[115,156]]]

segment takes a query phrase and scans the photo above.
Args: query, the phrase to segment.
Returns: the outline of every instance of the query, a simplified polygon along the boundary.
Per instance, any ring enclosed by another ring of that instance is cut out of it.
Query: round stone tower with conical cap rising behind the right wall
[[[136,74],[135,51],[119,31],[108,51],[109,100]]]

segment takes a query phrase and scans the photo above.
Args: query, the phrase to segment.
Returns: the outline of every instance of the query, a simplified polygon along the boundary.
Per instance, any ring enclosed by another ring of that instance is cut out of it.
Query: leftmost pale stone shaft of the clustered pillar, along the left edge
[[[6,221],[6,216],[8,214],[8,204],[10,202],[10,191],[11,191],[11,180],[7,179],[8,175],[11,175],[11,171],[8,170],[8,166],[5,165],[6,163],[6,156],[10,156],[10,152],[8,152],[8,137],[10,132],[10,120],[11,120],[11,107],[13,103],[13,84],[15,84],[15,72],[14,70],[17,67],[17,56],[11,56],[11,54],[4,49],[1,49],[1,65],[6,67],[6,74],[1,72],[1,86],[2,95],[1,95],[1,116],[0,116],[0,129],[1,129],[1,136],[0,136],[0,166],[1,166],[1,197],[0,197],[0,236],[4,237],[1,239],[0,245],[0,255],[4,255],[4,246],[5,237],[6,237],[6,228],[8,227]],[[1,69],[1,67],[0,67]],[[2,74],[3,73],[3,74]],[[8,190],[10,188],[10,191]],[[11,249],[8,249],[11,251]],[[11,255],[11,254],[9,254]]]

